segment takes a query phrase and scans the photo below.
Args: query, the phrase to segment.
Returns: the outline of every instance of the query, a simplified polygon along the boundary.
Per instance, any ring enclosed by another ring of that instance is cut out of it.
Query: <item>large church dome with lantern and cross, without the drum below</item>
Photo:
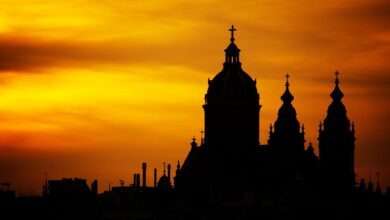
[[[240,49],[234,43],[233,31],[230,45],[225,49],[226,59],[223,69],[212,80],[209,80],[209,88],[206,100],[214,98],[259,98],[256,81],[253,80],[241,68],[239,60]]]

